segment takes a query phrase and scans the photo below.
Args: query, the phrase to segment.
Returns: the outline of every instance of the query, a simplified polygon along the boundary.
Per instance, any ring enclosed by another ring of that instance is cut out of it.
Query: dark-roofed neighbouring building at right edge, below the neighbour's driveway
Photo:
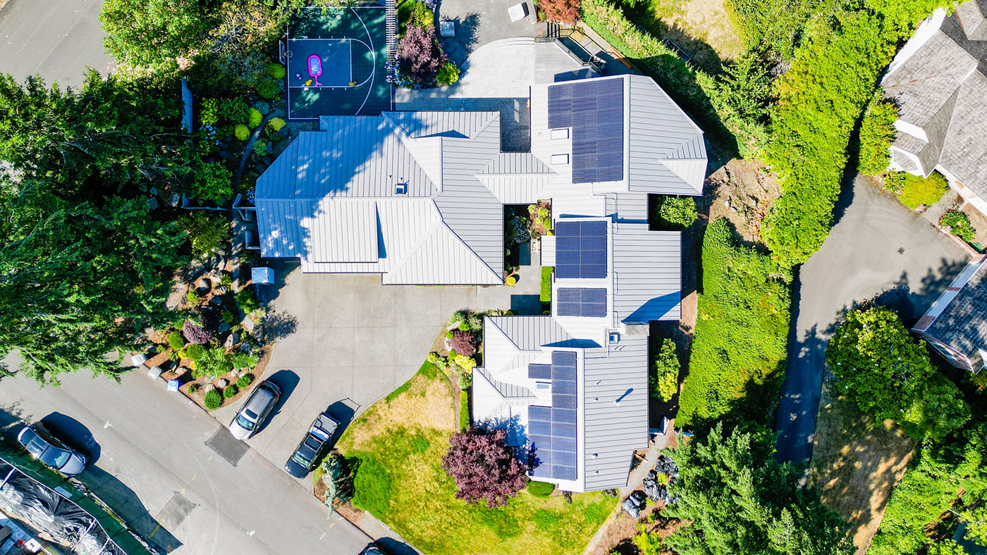
[[[970,262],[912,328],[949,363],[974,374],[987,359],[987,257]]]

